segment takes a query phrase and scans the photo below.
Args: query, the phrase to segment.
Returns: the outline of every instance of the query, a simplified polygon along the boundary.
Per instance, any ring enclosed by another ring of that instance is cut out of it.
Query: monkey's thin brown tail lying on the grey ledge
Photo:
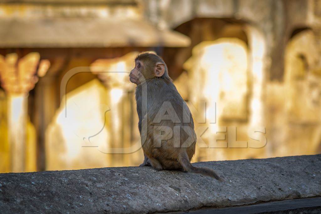
[[[186,152],[181,153],[181,155],[179,156],[179,162],[182,164],[183,169],[187,172],[202,174],[205,176],[213,177],[219,181],[223,181],[223,179],[219,175],[217,175],[215,171],[211,169],[198,168],[198,167],[192,166]]]

